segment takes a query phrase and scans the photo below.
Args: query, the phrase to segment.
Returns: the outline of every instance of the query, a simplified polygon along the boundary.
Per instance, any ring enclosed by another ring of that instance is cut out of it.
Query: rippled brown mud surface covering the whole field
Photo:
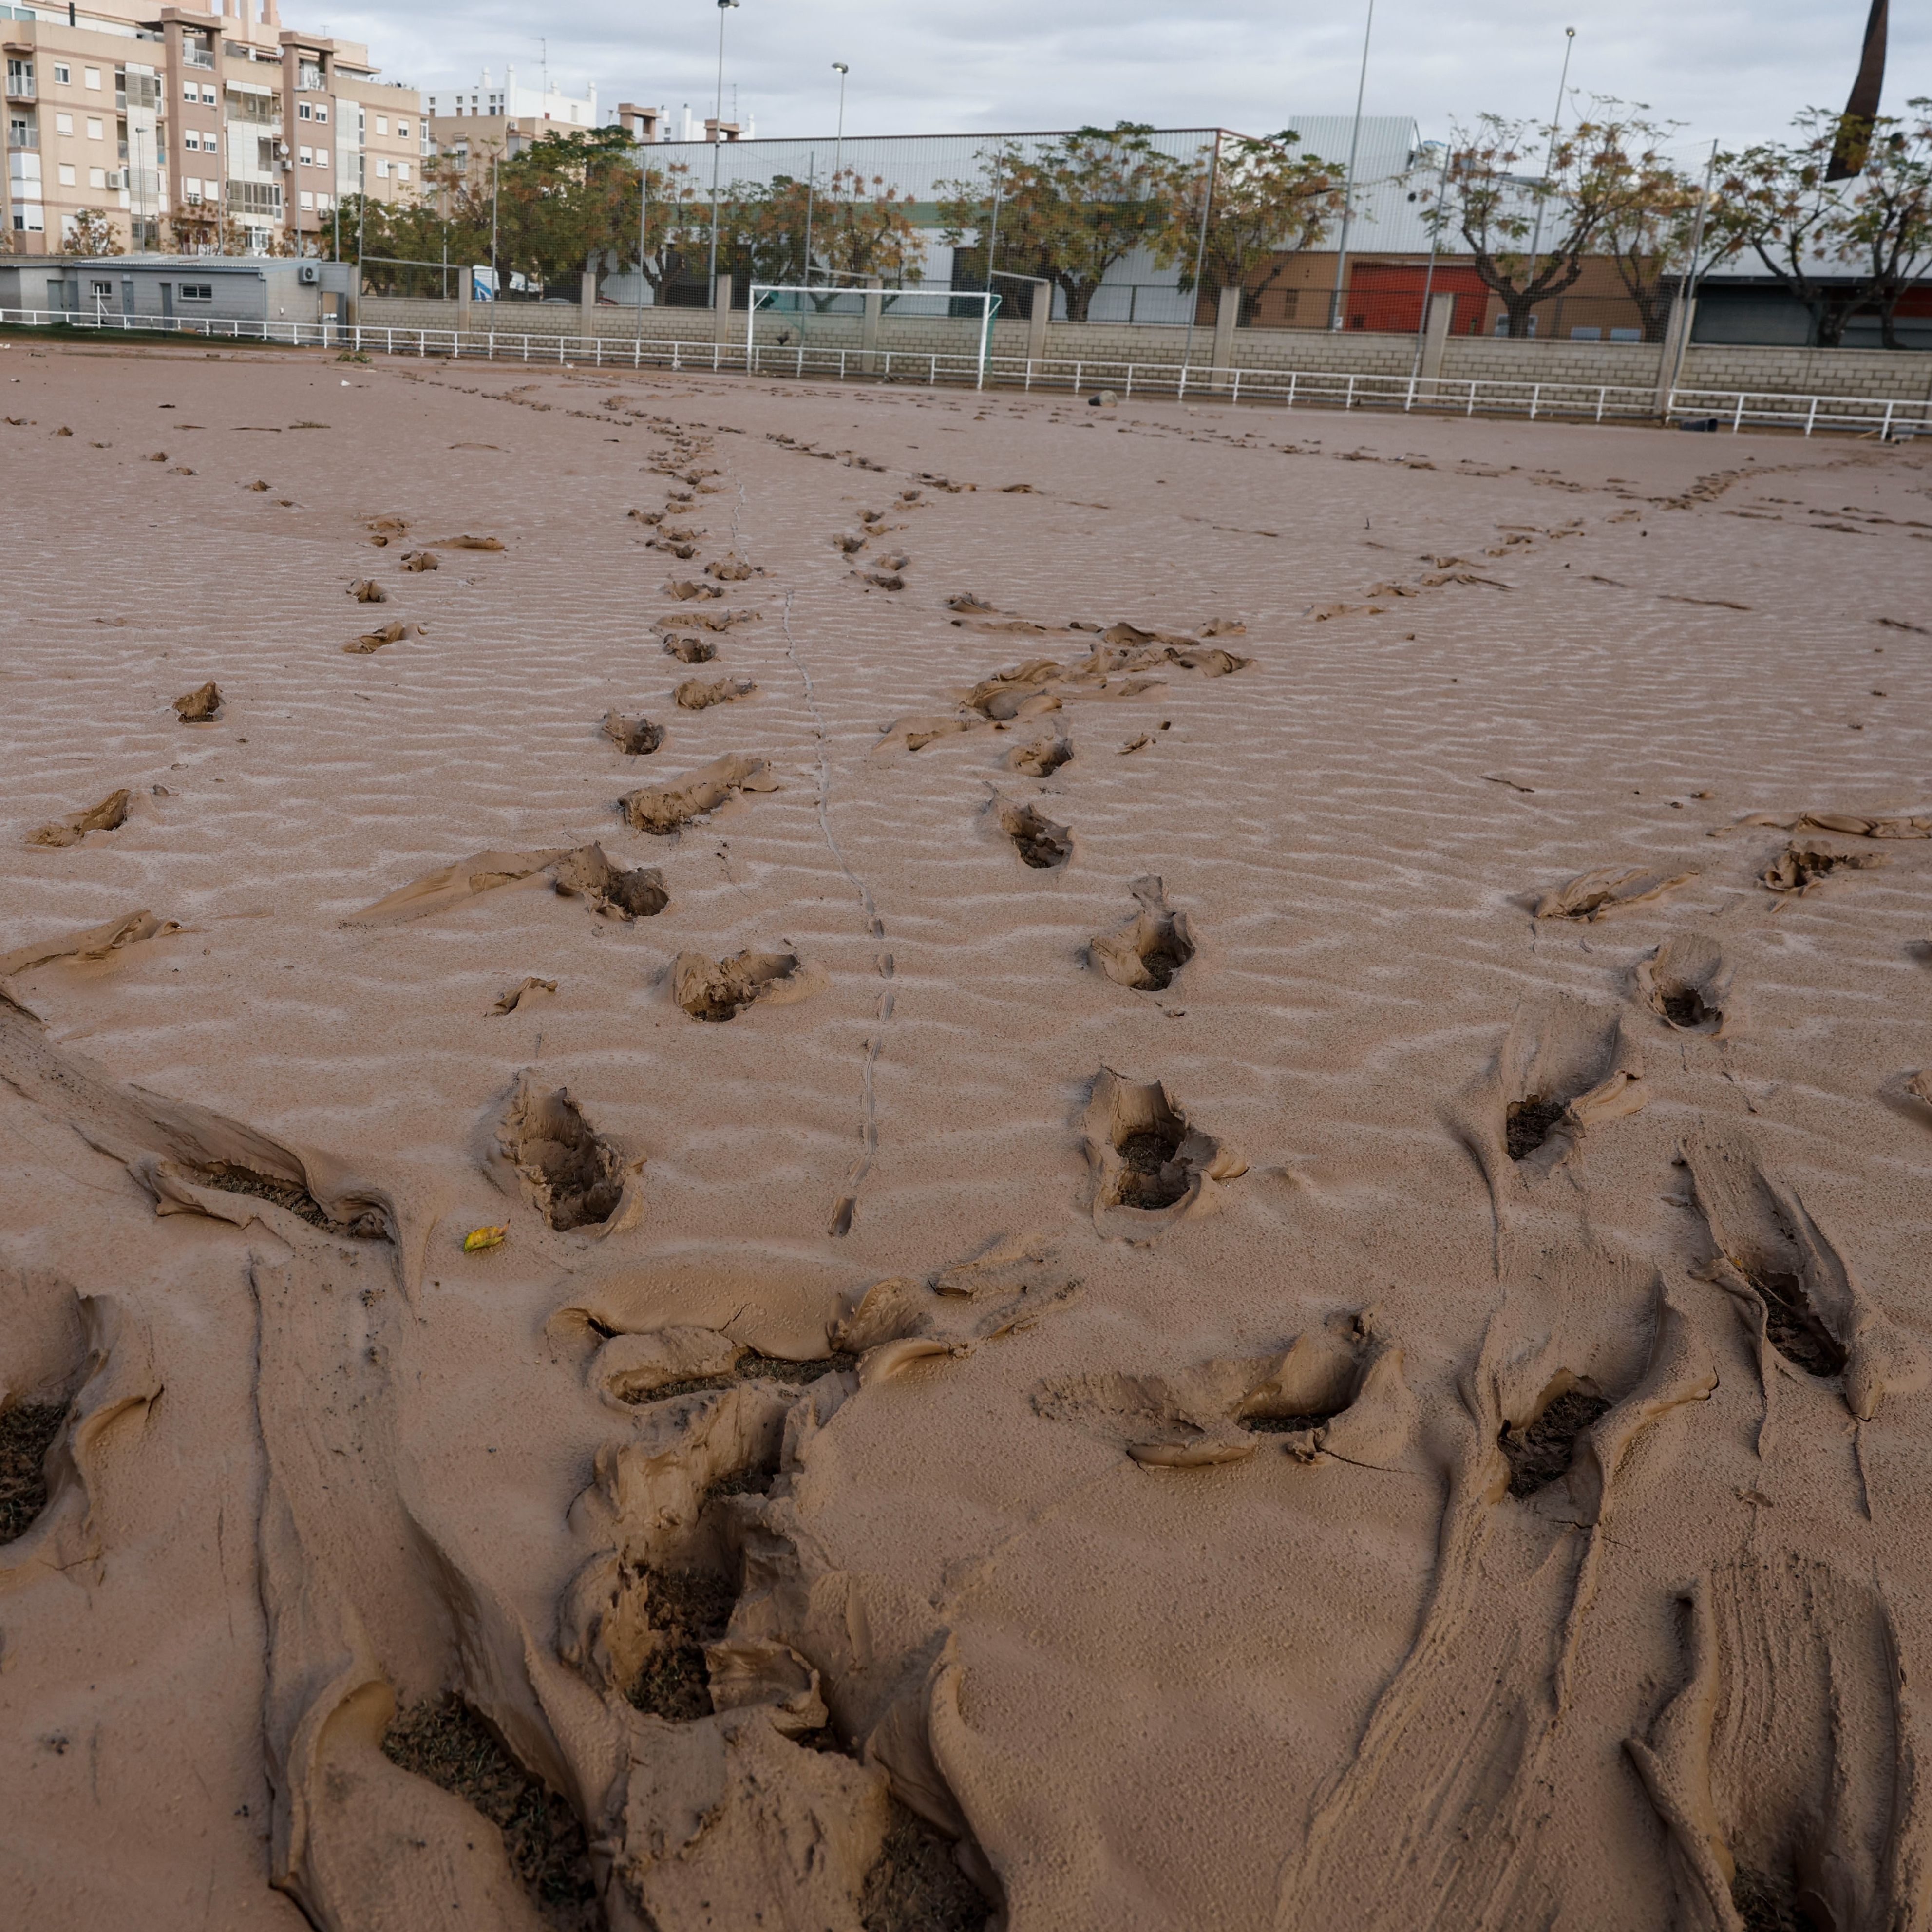
[[[1928,1920],[1932,460],[0,373],[10,1922]]]

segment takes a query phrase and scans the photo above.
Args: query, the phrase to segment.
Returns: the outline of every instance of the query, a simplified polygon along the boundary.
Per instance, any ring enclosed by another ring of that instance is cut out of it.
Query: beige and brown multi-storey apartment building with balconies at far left
[[[0,44],[15,253],[100,222],[128,249],[303,251],[342,195],[421,191],[417,91],[365,46],[284,29],[276,0],[0,4]]]

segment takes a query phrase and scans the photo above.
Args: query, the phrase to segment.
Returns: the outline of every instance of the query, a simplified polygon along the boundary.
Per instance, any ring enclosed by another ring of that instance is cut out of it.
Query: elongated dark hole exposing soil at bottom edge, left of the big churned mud
[[[583,1824],[460,1696],[398,1710],[383,1733],[383,1756],[460,1797],[502,1832],[510,1866],[545,1924],[601,1932],[605,1915]]]

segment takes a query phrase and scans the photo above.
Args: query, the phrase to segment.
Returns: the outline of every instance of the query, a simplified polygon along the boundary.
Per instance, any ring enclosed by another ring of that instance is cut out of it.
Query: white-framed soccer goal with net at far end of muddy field
[[[746,369],[840,369],[860,354],[883,375],[941,365],[985,383],[999,296],[980,288],[854,288],[753,282],[744,325]]]

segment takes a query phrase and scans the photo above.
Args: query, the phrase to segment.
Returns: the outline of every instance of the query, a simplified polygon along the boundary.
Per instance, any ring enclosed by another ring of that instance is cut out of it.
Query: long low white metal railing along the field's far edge
[[[191,334],[232,342],[282,342],[292,348],[379,355],[446,355],[491,361],[554,363],[593,369],[705,369],[752,375],[854,377],[883,383],[1068,390],[1105,388],[1128,396],[1200,396],[1231,404],[1273,402],[1287,408],[1428,410],[1455,415],[1542,415],[1607,421],[1677,421],[1737,433],[1750,429],[1822,429],[1855,435],[1932,435],[1932,396],[1810,396],[1779,390],[1673,388],[1660,408],[1652,384],[1503,383],[1466,377],[1362,375],[1327,369],[1213,369],[1194,363],[1090,361],[1070,357],[987,355],[918,350],[775,348],[744,342],[678,338],[570,336],[514,328],[396,328],[383,323],[249,323],[201,315],[89,315],[66,309],[0,307],[0,327],[108,328]]]

